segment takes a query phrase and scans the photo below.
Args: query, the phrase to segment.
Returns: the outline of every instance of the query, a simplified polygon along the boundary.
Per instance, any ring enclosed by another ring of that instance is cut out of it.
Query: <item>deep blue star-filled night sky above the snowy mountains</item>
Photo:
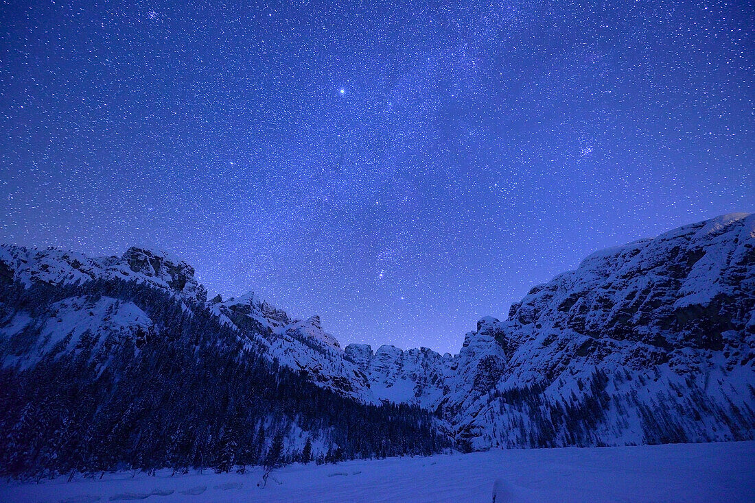
[[[458,352],[602,247],[755,210],[751,2],[0,5],[0,239],[157,247]]]

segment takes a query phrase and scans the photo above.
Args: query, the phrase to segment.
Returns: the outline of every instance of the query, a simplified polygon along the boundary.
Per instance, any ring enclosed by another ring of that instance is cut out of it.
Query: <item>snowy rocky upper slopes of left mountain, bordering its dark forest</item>
[[[205,305],[221,323],[238,330],[242,339],[264,351],[271,361],[306,372],[310,381],[322,388],[363,403],[376,401],[362,370],[345,357],[337,340],[322,330],[318,316],[294,319],[253,292],[226,302],[220,296],[206,302],[207,290],[197,281],[194,269],[168,253],[131,247],[120,257],[93,258],[54,247],[45,250],[13,245],[0,247],[0,281],[17,281],[29,287],[35,283],[71,285],[108,280],[135,281],[171,293],[193,306]],[[49,321],[42,327],[39,339],[47,341],[44,344],[36,342],[39,329],[29,327],[29,314],[23,310],[14,313],[0,327],[0,336],[10,338],[26,330],[30,332],[30,342],[23,357],[14,357],[6,364],[28,365],[38,361],[55,347],[54,342],[69,334],[72,339],[67,345],[56,347],[57,351],[74,348],[79,336],[87,330],[98,341],[129,333],[137,334],[136,342],[153,331],[152,321],[146,314],[134,315],[135,306],[130,308],[118,302],[105,306],[103,302],[98,302],[97,306],[78,298],[61,302],[60,309],[46,313]],[[13,310],[14,306],[6,308]]]

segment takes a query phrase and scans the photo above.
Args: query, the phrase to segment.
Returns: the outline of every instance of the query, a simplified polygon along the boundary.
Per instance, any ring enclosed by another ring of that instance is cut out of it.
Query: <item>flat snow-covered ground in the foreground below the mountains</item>
[[[755,441],[511,449],[262,472],[4,483],[0,501],[755,501]]]

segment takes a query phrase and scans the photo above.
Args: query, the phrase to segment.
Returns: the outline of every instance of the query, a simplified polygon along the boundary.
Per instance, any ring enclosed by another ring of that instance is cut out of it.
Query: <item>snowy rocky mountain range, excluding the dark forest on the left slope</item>
[[[593,253],[575,271],[533,287],[507,320],[482,318],[453,356],[341,348],[319,317],[294,319],[254,293],[205,301],[193,269],[155,251],[92,259],[5,246],[3,278],[26,286],[118,278],[155,287],[204,309],[246,347],[320,388],[436,413],[465,449],[755,437],[753,215],[720,216]],[[23,310],[4,310],[0,336],[10,338],[28,320]],[[154,331],[135,305],[66,299],[42,327],[44,344],[29,354],[40,357],[86,330],[133,339]]]

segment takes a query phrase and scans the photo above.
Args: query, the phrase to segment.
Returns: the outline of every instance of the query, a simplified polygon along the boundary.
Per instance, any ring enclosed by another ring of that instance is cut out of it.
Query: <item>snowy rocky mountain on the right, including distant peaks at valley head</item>
[[[436,410],[467,449],[752,439],[755,216],[593,253],[506,321],[483,318],[450,359],[427,351],[408,368],[347,353],[374,384],[423,390],[405,400]]]

